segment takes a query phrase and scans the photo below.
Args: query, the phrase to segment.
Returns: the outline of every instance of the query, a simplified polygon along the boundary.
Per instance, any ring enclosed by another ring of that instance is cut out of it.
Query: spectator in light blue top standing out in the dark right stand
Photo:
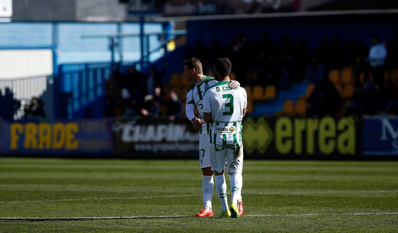
[[[380,43],[380,38],[377,35],[372,37],[372,43],[368,61],[372,67],[373,81],[380,86],[384,79],[384,62],[387,57],[387,49]]]

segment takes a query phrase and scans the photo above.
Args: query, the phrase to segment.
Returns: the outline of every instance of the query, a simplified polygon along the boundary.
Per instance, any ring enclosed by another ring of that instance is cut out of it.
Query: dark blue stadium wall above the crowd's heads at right
[[[274,45],[285,36],[293,40],[305,39],[311,50],[320,45],[322,39],[336,36],[343,43],[357,39],[370,46],[374,34],[382,40],[395,37],[397,17],[398,14],[375,14],[189,21],[187,43],[195,47],[198,41],[203,41],[207,46],[211,39],[217,38],[224,46],[240,32],[248,35],[251,41],[257,41],[261,33],[267,33]]]

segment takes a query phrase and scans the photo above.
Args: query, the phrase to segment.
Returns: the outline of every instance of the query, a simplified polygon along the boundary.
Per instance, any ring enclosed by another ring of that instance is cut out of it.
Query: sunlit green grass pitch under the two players
[[[198,163],[0,158],[0,232],[398,232],[397,161],[246,160],[238,219]]]

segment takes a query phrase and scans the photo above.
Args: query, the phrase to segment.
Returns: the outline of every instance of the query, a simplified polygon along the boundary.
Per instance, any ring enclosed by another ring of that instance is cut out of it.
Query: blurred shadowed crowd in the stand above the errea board
[[[315,89],[307,100],[308,115],[398,114],[398,80],[390,78],[398,67],[398,31],[394,40],[381,41],[377,35],[369,38],[367,47],[357,40],[343,44],[339,37],[323,39],[313,51],[304,39],[293,41],[284,37],[280,45],[273,45],[267,34],[258,41],[237,33],[221,47],[213,39],[209,47],[198,42],[191,54],[202,61],[205,72],[213,72],[218,57],[228,57],[236,79],[245,85],[274,85],[288,90],[293,83],[314,83]],[[344,100],[339,86],[329,80],[332,69],[350,67],[353,95]]]

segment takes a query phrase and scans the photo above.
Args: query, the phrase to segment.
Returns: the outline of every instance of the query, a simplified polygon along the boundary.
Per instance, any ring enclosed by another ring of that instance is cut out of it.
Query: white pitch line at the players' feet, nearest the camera
[[[277,216],[277,217],[289,217],[289,216],[316,216],[316,215],[392,215],[398,214],[398,212],[385,212],[385,213],[298,213],[298,214],[245,214],[244,216]],[[176,218],[176,217],[194,217],[193,215],[160,215],[160,216],[131,216],[131,217],[0,217],[0,221],[6,220],[106,220],[106,219],[146,219],[146,218]]]

